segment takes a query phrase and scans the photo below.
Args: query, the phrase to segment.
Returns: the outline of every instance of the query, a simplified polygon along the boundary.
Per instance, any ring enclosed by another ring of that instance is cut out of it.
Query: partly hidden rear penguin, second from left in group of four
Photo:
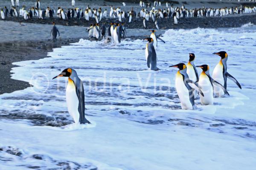
[[[187,74],[189,76],[189,79],[191,79],[193,82],[197,82],[198,81],[198,72],[195,68],[194,60],[195,60],[195,54],[189,53],[189,62],[186,65],[186,67],[187,67]],[[196,98],[198,92],[194,91],[193,94],[194,94],[194,97]]]

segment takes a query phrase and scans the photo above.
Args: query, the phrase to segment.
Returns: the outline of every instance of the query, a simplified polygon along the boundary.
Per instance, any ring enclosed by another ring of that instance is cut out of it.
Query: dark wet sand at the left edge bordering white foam
[[[53,48],[58,48],[69,43],[78,42],[79,39],[62,39],[56,42],[52,41],[14,41],[14,42],[0,42],[0,72],[2,75],[0,83],[0,94],[12,93],[17,90],[23,90],[31,87],[29,82],[24,82],[12,79],[12,68],[18,67],[13,65],[13,62],[20,62],[26,60],[37,60],[47,56],[47,53]],[[12,47],[12,49],[10,49]],[[13,56],[15,54],[15,56]],[[13,56],[13,57],[10,57]]]

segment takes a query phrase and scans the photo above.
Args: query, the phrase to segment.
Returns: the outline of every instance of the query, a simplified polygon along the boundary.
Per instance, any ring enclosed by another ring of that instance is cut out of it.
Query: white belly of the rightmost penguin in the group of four
[[[223,65],[222,63],[218,63],[214,70],[213,70],[213,73],[212,73],[212,78],[219,82],[221,85],[224,86],[224,77],[223,77]],[[224,91],[219,88],[218,86],[216,85],[213,85],[213,88],[214,88],[214,93],[217,95],[217,96],[223,96],[224,95]]]

